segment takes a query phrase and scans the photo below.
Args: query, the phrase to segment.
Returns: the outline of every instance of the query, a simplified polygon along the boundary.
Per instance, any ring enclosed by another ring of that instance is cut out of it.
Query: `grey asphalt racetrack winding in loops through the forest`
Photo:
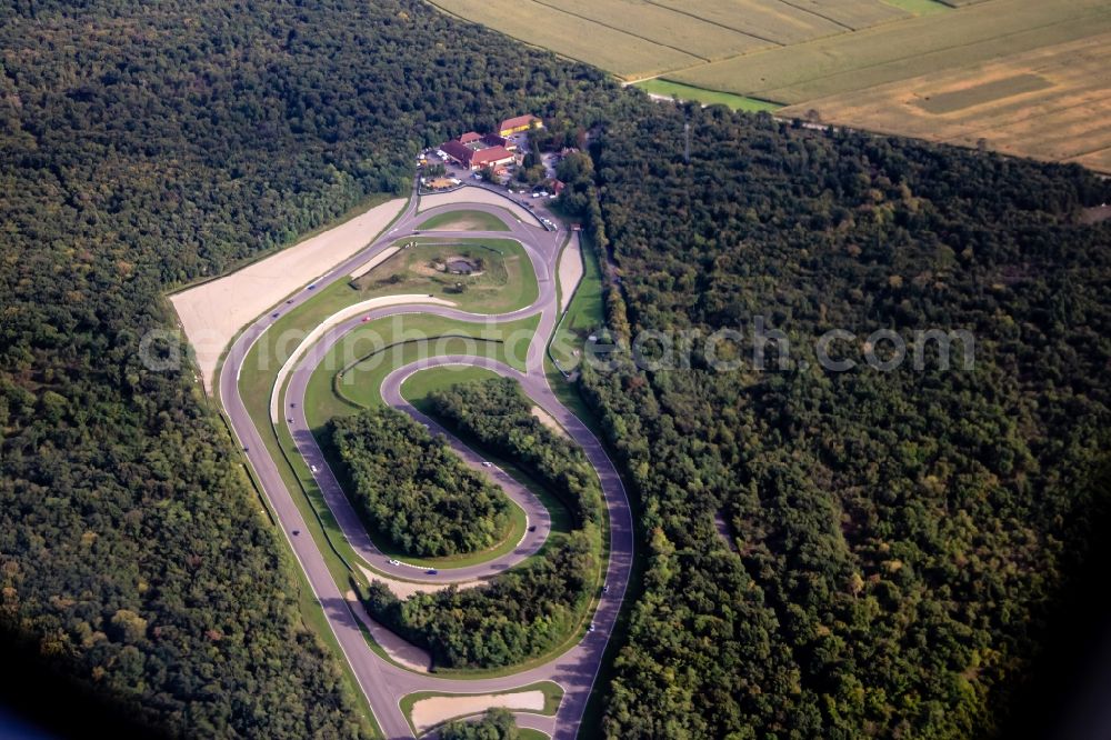
[[[554,718],[548,718],[519,713],[519,723],[522,727],[542,730],[553,738],[570,740],[578,734],[587,700],[590,697],[601,664],[602,654],[609,642],[618,612],[621,608],[621,601],[628,587],[633,557],[633,530],[629,501],[617,469],[607,457],[599,440],[594,438],[590,430],[574,414],[559,402],[548,386],[544,374],[543,357],[546,346],[559,319],[554,282],[556,263],[565,234],[563,232],[546,231],[539,226],[539,222],[518,222],[513,218],[507,218],[502,209],[482,203],[444,206],[430,209],[419,216],[417,208],[418,198],[414,191],[408,208],[387,233],[381,234],[367,249],[344,263],[330,270],[327,274],[317,278],[314,281],[316,289],[323,289],[332,282],[344,279],[352,270],[390,247],[398,239],[412,234],[422,221],[433,216],[452,210],[481,210],[493,213],[506,221],[510,228],[508,232],[483,233],[468,231],[452,233],[437,231],[429,232],[429,236],[434,233],[436,237],[446,238],[509,238],[519,241],[529,254],[529,259],[532,261],[537,273],[539,297],[532,306],[510,313],[478,316],[443,306],[414,303],[377,309],[369,312],[369,316],[372,319],[377,319],[409,313],[429,313],[466,321],[503,322],[539,314],[539,327],[528,349],[526,371],[521,372],[486,358],[468,356],[432,357],[391,372],[382,384],[382,396],[391,406],[407,411],[423,423],[429,424],[431,429],[439,430],[439,427],[432,420],[421,417],[416,409],[412,409],[401,398],[400,388],[403,380],[423,368],[447,364],[483,367],[520,382],[522,389],[533,402],[551,414],[568,431],[572,439],[582,447],[601,481],[610,522],[610,556],[605,574],[605,583],[609,588],[607,592],[600,596],[593,617],[595,626],[593,632],[585,633],[578,644],[550,662],[504,678],[480,680],[441,679],[434,674],[407,670],[381,658],[368,646],[359,629],[359,623],[344,598],[347,584],[337,584],[334,579],[332,579],[324,558],[317,550],[317,546],[311,537],[292,534],[293,531],[307,530],[293,499],[293,496],[300,496],[300,493],[290,491],[286,487],[276,461],[270,458],[261,433],[251,421],[243,400],[239,394],[238,378],[240,370],[251,347],[276,321],[271,313],[267,313],[263,318],[248,327],[232,343],[220,373],[220,399],[228,413],[232,429],[247,451],[246,453],[262,484],[266,496],[277,513],[279,523],[301,568],[304,570],[309,583],[323,607],[329,626],[334,632],[340,648],[354,671],[359,684],[366,693],[376,719],[387,738],[413,737],[412,730],[406,721],[398,702],[402,697],[414,691],[490,693],[512,690],[537,681],[549,680],[559,683],[564,690],[564,698],[560,704],[558,714]],[[307,276],[307,280],[311,279],[312,276]],[[297,304],[311,296],[312,293],[306,289],[290,300]],[[282,304],[277,310],[283,312],[288,308],[288,304]],[[304,419],[304,392],[312,370],[327,354],[328,349],[334,346],[346,333],[361,326],[362,322],[362,317],[359,317],[329,330],[318,344],[313,346],[309,352],[296,361],[296,367],[289,376],[289,384],[282,399],[282,406],[288,413],[280,422],[289,424],[299,452],[306,456],[309,463],[316,468],[317,472],[314,472],[314,476],[317,483],[324,492],[329,507],[332,508],[332,512],[341,523],[344,536],[348,537],[356,551],[377,570],[401,576],[410,580],[420,580],[413,578],[414,574],[411,568],[391,566],[377,548],[373,547],[373,543],[370,542],[370,538],[362,529],[358,517],[336,483],[334,476],[328,469],[319,448],[317,448],[316,440],[308,431]],[[269,430],[267,431],[269,432]],[[474,466],[481,464],[477,456],[460,444],[458,440],[451,438],[449,441],[460,451],[464,460]],[[543,507],[536,501],[531,493],[518,487],[512,479],[508,479],[500,471],[493,471],[484,467],[480,469],[490,472],[499,484],[506,487],[507,493],[526,508],[530,517],[530,523],[538,524],[537,532],[532,533],[534,534],[532,537],[527,536],[513,552],[502,558],[469,568],[441,568],[434,579],[430,578],[428,580],[442,583],[490,576],[492,572],[511,567],[531,552],[534,552],[548,534],[550,522],[548,521],[547,511],[541,513]],[[536,508],[538,506],[539,510]],[[352,519],[352,517],[354,518]]]

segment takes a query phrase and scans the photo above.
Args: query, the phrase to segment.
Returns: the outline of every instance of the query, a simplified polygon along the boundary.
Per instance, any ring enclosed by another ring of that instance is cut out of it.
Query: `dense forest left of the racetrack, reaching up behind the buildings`
[[[422,144],[589,120],[601,80],[409,0],[0,7],[0,650],[21,708],[64,721],[57,673],[170,734],[360,732],[219,417],[139,342],[172,326],[167,289],[408,192]]]

